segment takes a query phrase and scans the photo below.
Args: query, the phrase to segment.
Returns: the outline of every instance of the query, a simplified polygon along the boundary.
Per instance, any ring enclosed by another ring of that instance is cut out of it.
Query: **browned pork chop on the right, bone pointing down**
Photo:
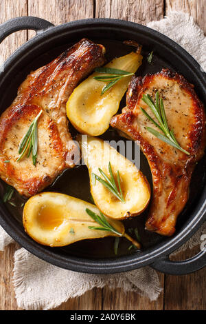
[[[163,99],[170,130],[176,140],[190,155],[173,148],[153,136],[146,127],[155,128],[140,107],[155,119],[143,94],[150,94],[155,101],[159,91]],[[146,222],[146,229],[162,235],[172,235],[176,218],[183,210],[189,195],[189,186],[196,162],[205,149],[205,110],[194,92],[193,85],[180,74],[162,70],[148,74],[144,79],[133,77],[127,92],[127,105],[111,120],[111,125],[131,139],[139,141],[146,155],[153,180],[153,196]]]

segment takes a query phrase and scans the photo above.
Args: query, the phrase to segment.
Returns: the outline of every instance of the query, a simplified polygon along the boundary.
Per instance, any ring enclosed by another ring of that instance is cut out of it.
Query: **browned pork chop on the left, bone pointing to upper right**
[[[69,133],[66,103],[76,85],[104,63],[104,52],[102,45],[82,39],[51,63],[31,72],[12,105],[1,115],[0,176],[20,194],[36,194],[63,170],[73,167],[78,148]],[[41,110],[36,166],[31,156],[16,161],[19,143]]]

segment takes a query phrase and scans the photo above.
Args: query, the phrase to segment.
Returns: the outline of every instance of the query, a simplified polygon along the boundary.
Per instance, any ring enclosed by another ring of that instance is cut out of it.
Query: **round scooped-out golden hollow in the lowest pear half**
[[[66,221],[60,205],[41,206],[36,220],[43,230],[57,230]]]

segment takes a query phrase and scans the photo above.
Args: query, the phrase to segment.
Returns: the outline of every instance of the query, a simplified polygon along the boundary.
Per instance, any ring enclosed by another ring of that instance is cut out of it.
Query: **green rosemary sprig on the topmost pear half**
[[[113,68],[96,68],[95,71],[100,73],[110,74],[106,76],[104,74],[98,75],[97,77],[93,78],[98,81],[108,82],[106,85],[104,85],[101,95],[104,94],[104,92],[108,91],[111,87],[113,87],[113,85],[115,85],[115,83],[117,83],[122,78],[129,77],[130,75],[134,74],[124,70],[113,69]]]

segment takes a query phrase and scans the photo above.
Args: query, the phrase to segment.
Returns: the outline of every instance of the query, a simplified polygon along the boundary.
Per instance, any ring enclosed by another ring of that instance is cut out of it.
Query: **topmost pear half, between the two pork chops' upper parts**
[[[137,52],[113,59],[105,65],[105,68],[135,73],[141,65],[140,51],[139,47]],[[108,82],[94,79],[98,75],[100,75],[99,72],[94,72],[80,83],[67,101],[67,117],[73,126],[82,134],[91,136],[98,136],[106,132],[111,117],[116,114],[131,79],[131,76],[123,77],[102,94],[102,89]]]

